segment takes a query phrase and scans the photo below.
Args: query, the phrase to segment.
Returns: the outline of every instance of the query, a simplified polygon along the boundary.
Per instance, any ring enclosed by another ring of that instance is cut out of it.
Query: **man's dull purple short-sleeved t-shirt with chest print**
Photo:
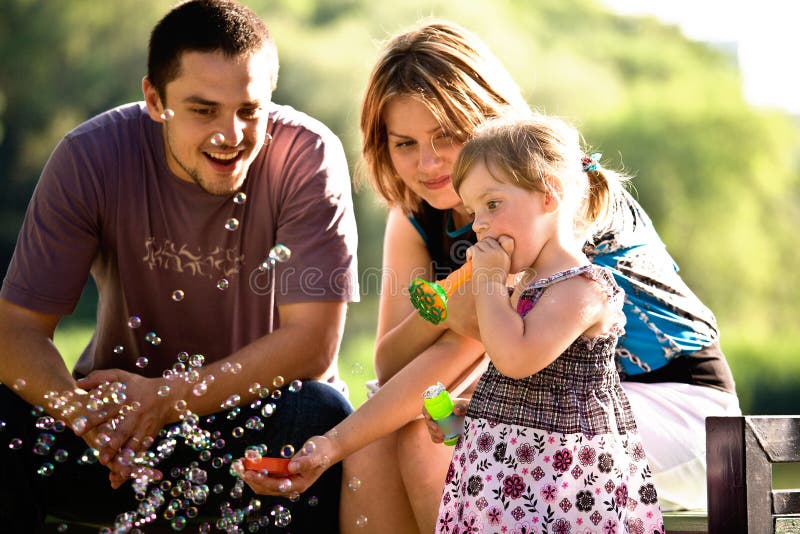
[[[178,179],[161,128],[143,103],[80,125],[53,151],[28,207],[0,296],[66,315],[91,272],[97,326],[77,374],[158,376],[181,352],[214,361],[263,336],[270,277],[259,267],[278,243],[292,254],[276,264],[276,304],[358,300],[349,170],[327,127],[271,104],[272,142],[250,167],[243,203]]]

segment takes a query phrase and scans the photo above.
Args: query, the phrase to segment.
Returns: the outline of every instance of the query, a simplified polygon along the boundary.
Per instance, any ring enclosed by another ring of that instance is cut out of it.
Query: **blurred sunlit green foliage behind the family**
[[[535,107],[567,117],[610,162],[636,176],[689,285],[717,314],[749,413],[798,413],[800,124],[754,109],[735,54],[593,0],[245,0],[281,55],[274,99],[327,123],[355,174],[358,106],[380,42],[425,16],[482,36]],[[39,171],[70,128],[141,98],[149,31],[165,0],[4,0],[0,17],[0,268],[11,257]],[[362,272],[380,266],[384,209],[356,194]],[[366,280],[366,279],[365,279]],[[80,351],[91,288],[57,342]],[[354,404],[372,376],[375,283],[351,307],[342,372]]]

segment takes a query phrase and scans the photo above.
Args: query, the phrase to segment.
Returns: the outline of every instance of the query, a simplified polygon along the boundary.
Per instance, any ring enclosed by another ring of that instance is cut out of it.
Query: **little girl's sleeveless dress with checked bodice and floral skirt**
[[[586,276],[619,316],[611,332],[580,337],[523,379],[494,367],[481,377],[453,451],[436,532],[652,534],[663,523],[656,489],[614,366],[622,290],[587,265],[538,280],[521,294],[525,316],[552,284]]]

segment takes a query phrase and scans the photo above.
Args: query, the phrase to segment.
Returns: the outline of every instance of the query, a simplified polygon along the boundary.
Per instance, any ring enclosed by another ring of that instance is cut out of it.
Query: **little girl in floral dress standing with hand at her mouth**
[[[663,532],[614,365],[624,293],[582,252],[620,177],[583,155],[573,128],[542,116],[487,123],[452,176],[474,214],[472,279],[491,364],[436,531]],[[518,272],[509,300],[506,279]]]

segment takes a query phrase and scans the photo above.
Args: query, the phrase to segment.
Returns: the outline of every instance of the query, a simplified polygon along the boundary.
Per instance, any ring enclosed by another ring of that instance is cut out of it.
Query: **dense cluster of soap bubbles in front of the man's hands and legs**
[[[139,317],[132,316],[128,324],[131,328],[141,327],[142,321]],[[148,334],[149,335],[149,334]],[[121,350],[121,349],[120,349]],[[147,359],[141,356],[137,360],[137,365],[147,365]],[[205,356],[202,354],[188,354],[181,352],[177,361],[168,369],[165,369],[162,376],[169,383],[175,381],[185,381],[194,384],[193,393],[197,394],[197,388],[203,386],[207,388],[213,384],[213,374],[201,375],[200,369],[205,364]],[[220,367],[223,373],[239,374],[242,366],[238,363],[226,363]],[[200,377],[203,376],[201,379]],[[271,416],[276,405],[273,401],[280,398],[282,388],[286,381],[282,376],[274,377],[272,381],[273,390],[267,386],[254,382],[248,388],[251,395],[256,399],[250,404],[250,408],[257,411],[261,416],[254,415],[247,419],[244,427],[248,430],[260,431],[264,428],[263,418]],[[16,390],[21,390],[26,386],[24,381],[17,381],[14,384]],[[296,393],[302,389],[302,382],[294,380],[286,388],[290,393]],[[104,382],[89,392],[79,393],[78,391],[67,390],[63,392],[51,391],[45,394],[45,399],[49,407],[59,414],[60,419],[47,415],[44,408],[36,406],[32,410],[35,419],[35,426],[41,430],[36,443],[33,446],[34,453],[42,456],[43,461],[38,468],[39,476],[51,476],[59,463],[70,460],[70,455],[66,450],[56,449],[53,451],[56,442],[53,433],[63,432],[66,429],[64,421],[69,421],[77,431],[83,431],[88,425],[88,418],[93,414],[98,419],[106,419],[105,425],[115,427],[121,424],[124,417],[130,412],[140,408],[136,402],[128,402],[127,387],[121,382]],[[170,392],[170,386],[164,386],[157,394],[166,396]],[[239,395],[233,394],[223,402],[221,408],[227,410],[226,417],[235,420],[240,414],[240,404],[242,399]],[[244,482],[236,477],[235,471],[231,468],[234,458],[230,453],[223,452],[227,439],[237,439],[244,437],[245,429],[235,427],[231,437],[223,436],[220,431],[210,432],[201,427],[201,418],[189,410],[186,400],[178,400],[173,404],[173,408],[178,412],[179,423],[167,427],[153,438],[142,440],[144,450],[135,453],[131,449],[123,449],[117,455],[117,461],[132,468],[132,486],[134,495],[138,501],[135,510],[119,515],[113,527],[102,529],[101,533],[118,532],[144,532],[146,527],[156,521],[163,519],[175,531],[184,530],[192,520],[200,516],[200,511],[207,499],[211,495],[220,496],[224,499],[219,507],[219,516],[213,522],[200,523],[198,532],[211,532],[212,529],[224,530],[226,532],[243,532],[242,526],[250,532],[256,532],[266,526],[286,527],[290,525],[291,512],[284,506],[274,506],[268,511],[261,511],[261,501],[252,499],[245,505],[234,504],[243,496]],[[212,423],[215,416],[208,416],[205,421]],[[63,420],[62,420],[63,419]],[[0,430],[4,423],[0,424]],[[100,429],[104,427],[101,425]],[[94,464],[98,461],[99,449],[110,441],[109,435],[100,431],[95,440],[95,447],[87,448],[83,454],[75,458],[79,465]],[[190,462],[185,467],[173,468],[169,473],[162,474],[158,471],[159,465],[164,465],[165,461],[175,452],[180,443],[185,443],[197,453],[197,459]],[[9,442],[9,448],[19,450],[23,447],[23,442],[19,438]],[[313,447],[307,443],[305,447]],[[313,449],[306,449],[313,450]],[[281,447],[279,454],[284,458],[294,455],[294,447],[287,444]],[[247,450],[246,454],[262,455],[267,453],[266,445],[257,445]],[[52,455],[52,459],[45,458]],[[226,490],[223,484],[210,484],[209,470],[220,471],[232,476],[232,487]],[[235,477],[235,478],[234,478]],[[291,492],[291,483],[285,481],[286,487],[283,488],[290,501],[300,498],[297,492]],[[226,493],[227,492],[227,493]],[[312,497],[314,505],[317,498]],[[311,503],[311,500],[309,500]],[[65,531],[66,525],[58,528]]]

